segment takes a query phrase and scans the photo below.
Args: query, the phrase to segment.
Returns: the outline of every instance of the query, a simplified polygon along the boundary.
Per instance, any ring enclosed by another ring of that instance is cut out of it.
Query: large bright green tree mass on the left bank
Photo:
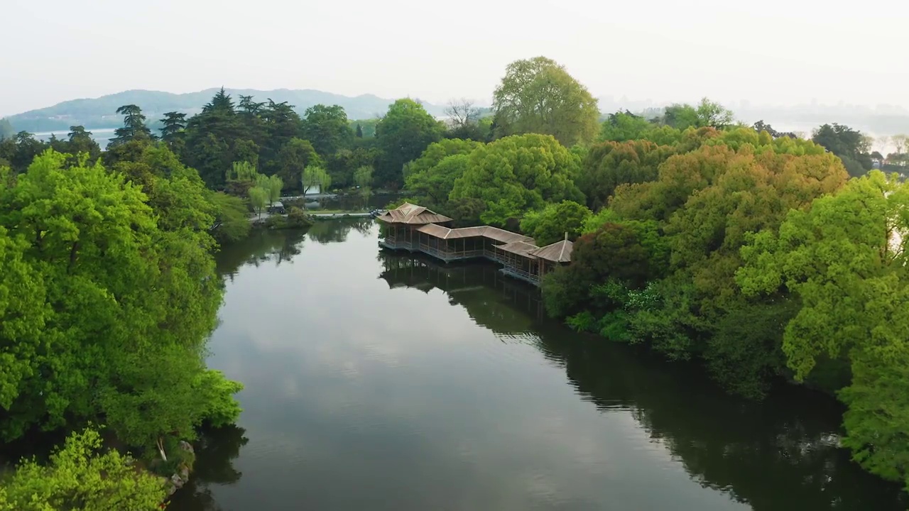
[[[104,418],[119,438],[149,446],[171,433],[192,437],[205,420],[197,376],[221,300],[211,205],[164,146],[117,165],[147,166],[154,193],[125,172],[85,157],[67,165],[53,151],[0,190],[0,225],[27,243],[21,260],[40,272],[36,310],[46,312],[43,346],[29,348],[28,330],[0,331],[5,366],[23,368],[15,388],[6,382],[5,438]],[[15,307],[0,318],[15,325],[7,314]]]

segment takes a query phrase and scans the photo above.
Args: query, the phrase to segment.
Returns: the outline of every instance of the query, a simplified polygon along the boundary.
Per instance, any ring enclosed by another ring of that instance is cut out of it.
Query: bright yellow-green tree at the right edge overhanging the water
[[[804,379],[826,358],[851,362],[852,384],[840,393],[849,406],[844,445],[875,474],[905,484],[907,205],[906,185],[872,171],[808,211],[791,211],[778,234],[754,235],[737,274],[745,293],[784,289],[800,298],[783,336],[787,365]]]

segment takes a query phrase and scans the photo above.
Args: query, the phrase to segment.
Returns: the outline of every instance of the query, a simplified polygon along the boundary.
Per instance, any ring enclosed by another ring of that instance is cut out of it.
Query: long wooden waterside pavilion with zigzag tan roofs
[[[504,275],[539,286],[540,279],[571,261],[573,245],[566,239],[543,247],[533,238],[492,225],[452,229],[453,220],[425,207],[405,203],[378,216],[388,224],[379,245],[393,250],[422,252],[445,261],[485,258],[501,263]]]

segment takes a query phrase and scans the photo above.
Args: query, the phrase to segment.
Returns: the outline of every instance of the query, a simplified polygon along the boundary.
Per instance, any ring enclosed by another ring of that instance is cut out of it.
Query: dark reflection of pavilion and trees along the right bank
[[[843,409],[830,396],[788,385],[760,403],[728,396],[693,364],[668,363],[547,320],[539,291],[495,266],[388,253],[379,260],[390,287],[440,289],[499,338],[533,343],[564,367],[585,401],[604,412],[628,410],[695,481],[756,511],[909,505],[898,485],[865,473],[838,447]]]

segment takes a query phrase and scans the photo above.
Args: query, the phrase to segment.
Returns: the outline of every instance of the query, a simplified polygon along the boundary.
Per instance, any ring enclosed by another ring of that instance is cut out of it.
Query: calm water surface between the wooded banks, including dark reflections
[[[171,509],[896,510],[839,408],[764,404],[544,320],[494,266],[380,253],[323,222],[220,255],[211,366],[245,383]]]

